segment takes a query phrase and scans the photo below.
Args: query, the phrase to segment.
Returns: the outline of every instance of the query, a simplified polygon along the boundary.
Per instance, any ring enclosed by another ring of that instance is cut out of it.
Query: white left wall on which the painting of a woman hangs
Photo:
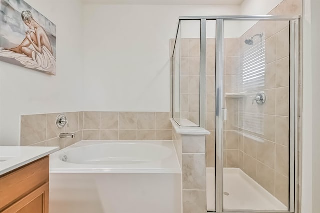
[[[19,145],[21,114],[82,110],[82,6],[26,0],[56,24],[56,76],[0,62],[0,144]]]

